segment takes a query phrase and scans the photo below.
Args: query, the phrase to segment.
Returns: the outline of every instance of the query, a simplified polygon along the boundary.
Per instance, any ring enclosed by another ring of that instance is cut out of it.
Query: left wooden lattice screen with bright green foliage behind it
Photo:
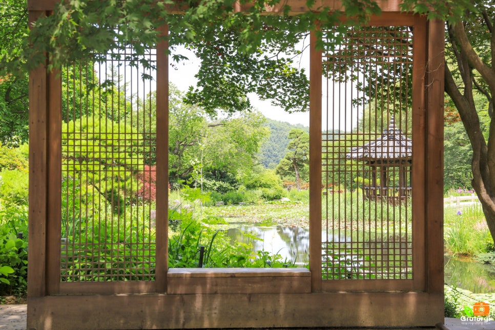
[[[63,282],[154,279],[156,98],[143,79],[154,69],[130,66],[132,56],[62,73]]]

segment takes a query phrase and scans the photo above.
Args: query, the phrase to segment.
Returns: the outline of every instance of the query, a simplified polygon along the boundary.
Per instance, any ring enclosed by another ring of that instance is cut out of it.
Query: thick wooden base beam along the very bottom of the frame
[[[28,300],[28,328],[434,327],[443,313],[443,294],[414,292],[47,296]]]

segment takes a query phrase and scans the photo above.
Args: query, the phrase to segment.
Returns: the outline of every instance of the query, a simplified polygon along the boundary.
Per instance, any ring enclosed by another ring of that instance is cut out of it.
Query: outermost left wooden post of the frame
[[[45,11],[29,11],[31,25]],[[29,74],[29,297],[46,295],[47,66]]]

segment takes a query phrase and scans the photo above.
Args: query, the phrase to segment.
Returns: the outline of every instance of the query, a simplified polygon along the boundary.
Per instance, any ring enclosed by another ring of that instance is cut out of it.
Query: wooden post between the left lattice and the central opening
[[[168,36],[168,26],[161,26]],[[156,49],[156,291],[167,291],[169,211],[169,57],[168,42]]]

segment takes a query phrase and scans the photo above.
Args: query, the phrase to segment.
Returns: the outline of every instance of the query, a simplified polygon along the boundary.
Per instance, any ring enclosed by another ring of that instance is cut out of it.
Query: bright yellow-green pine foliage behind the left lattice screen
[[[130,202],[124,196],[134,196],[129,188],[137,190],[139,185],[136,173],[143,162],[137,152],[142,135],[126,123],[86,116],[64,123],[62,132],[63,171],[87,181],[120,213],[123,203]]]

